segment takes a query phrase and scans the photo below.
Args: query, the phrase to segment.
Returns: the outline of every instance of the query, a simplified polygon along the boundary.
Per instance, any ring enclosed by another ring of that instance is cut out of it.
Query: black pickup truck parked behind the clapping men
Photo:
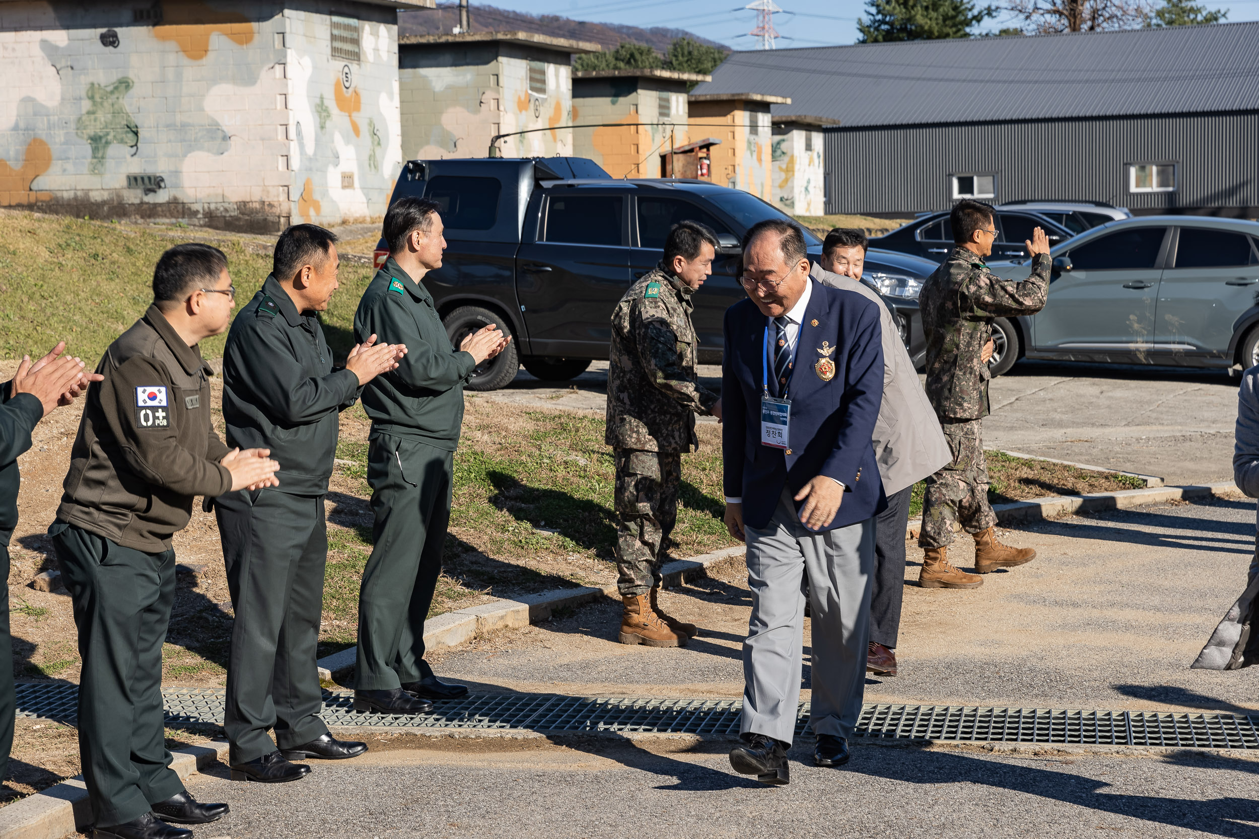
[[[762,219],[783,218],[760,199],[706,181],[613,180],[583,157],[413,160],[390,203],[423,196],[441,206],[447,249],[424,278],[451,341],[485,323],[511,333],[507,351],[473,374],[471,390],[496,390],[519,366],[567,381],[608,357],[611,317],[626,289],[656,267],[669,229],[684,219],[718,233],[713,275],[695,297],[701,364],[721,361],[721,318],[744,297],[739,240]],[[822,243],[805,231],[810,255]],[[376,264],[384,264],[384,240]],[[901,321],[922,356],[917,288],[934,269],[906,254],[871,252],[865,278]]]

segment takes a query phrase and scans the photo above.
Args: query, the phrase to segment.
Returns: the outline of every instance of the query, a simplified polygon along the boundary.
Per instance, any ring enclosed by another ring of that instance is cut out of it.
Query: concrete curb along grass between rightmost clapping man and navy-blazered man
[[[728,547],[689,560],[675,560],[660,570],[663,576],[662,585],[666,589],[672,589],[689,580],[701,579],[710,569],[731,562],[735,557],[742,558],[743,550],[742,546]],[[458,647],[477,635],[540,623],[549,619],[558,609],[584,606],[599,597],[619,597],[619,595],[614,585],[554,589],[512,600],[492,600],[480,606],[448,611],[424,621],[424,647],[427,649]],[[331,681],[336,673],[354,667],[355,660],[358,660],[358,648],[354,647],[325,655],[317,662],[319,675],[321,679]]]

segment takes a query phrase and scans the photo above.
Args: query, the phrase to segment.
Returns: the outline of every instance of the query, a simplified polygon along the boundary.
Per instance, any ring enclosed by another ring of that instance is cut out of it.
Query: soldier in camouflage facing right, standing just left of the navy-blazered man
[[[713,273],[716,236],[703,224],[674,225],[665,258],[612,313],[606,442],[614,449],[617,587],[622,644],[682,647],[695,636],[660,611],[660,565],[677,520],[681,455],[699,448],[695,414],[721,416],[716,394],[695,375],[691,294]]]

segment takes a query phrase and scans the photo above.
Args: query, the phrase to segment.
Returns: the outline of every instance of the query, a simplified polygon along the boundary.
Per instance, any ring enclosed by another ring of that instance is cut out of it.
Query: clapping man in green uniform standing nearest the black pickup
[[[354,708],[419,713],[427,699],[465,696],[424,660],[424,618],[442,570],[451,517],[454,448],[463,421],[463,385],[478,364],[507,346],[491,323],[451,347],[433,297],[421,284],[442,265],[436,203],[402,199],[385,214],[389,259],[354,316],[359,342],[370,336],[407,346],[398,369],[363,389],[371,418],[371,557],[359,590],[359,649]]]

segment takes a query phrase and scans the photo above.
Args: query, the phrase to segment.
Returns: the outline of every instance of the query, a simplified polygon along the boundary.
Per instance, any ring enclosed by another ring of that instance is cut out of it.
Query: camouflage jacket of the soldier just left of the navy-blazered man
[[[695,414],[718,395],[695,375],[691,289],[663,265],[636,282],[612,313],[608,445],[677,453],[699,448]]]

